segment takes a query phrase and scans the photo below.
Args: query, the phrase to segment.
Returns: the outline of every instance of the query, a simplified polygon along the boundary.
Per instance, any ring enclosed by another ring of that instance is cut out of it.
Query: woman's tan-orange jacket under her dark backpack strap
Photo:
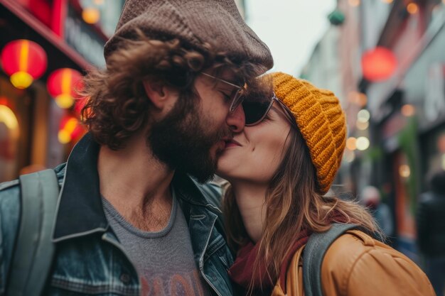
[[[286,295],[304,296],[300,248],[286,274]],[[284,296],[280,280],[272,296]],[[427,275],[407,256],[358,230],[328,248],[321,265],[324,296],[434,296]]]

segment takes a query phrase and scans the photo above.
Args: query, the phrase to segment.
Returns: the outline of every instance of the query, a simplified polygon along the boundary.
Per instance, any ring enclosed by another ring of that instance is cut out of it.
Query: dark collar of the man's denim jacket
[[[100,145],[92,138],[91,133],[87,133],[70,153],[53,231],[55,242],[107,230],[108,221],[102,208],[97,172],[99,150]],[[186,202],[187,208],[193,205],[203,206],[212,212],[218,212],[218,209],[207,202],[200,186],[188,175],[176,172],[173,187],[177,190],[181,207]],[[186,218],[187,212],[184,213]]]

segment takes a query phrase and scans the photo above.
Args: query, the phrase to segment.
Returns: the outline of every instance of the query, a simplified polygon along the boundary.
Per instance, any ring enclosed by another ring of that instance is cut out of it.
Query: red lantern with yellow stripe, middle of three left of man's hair
[[[82,74],[70,68],[55,70],[48,77],[46,87],[60,108],[70,108],[77,97],[76,91],[82,88]]]

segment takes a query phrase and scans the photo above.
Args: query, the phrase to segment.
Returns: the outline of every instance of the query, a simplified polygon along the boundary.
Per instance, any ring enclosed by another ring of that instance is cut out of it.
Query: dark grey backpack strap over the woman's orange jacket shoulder
[[[357,229],[355,224],[332,224],[326,232],[313,233],[309,236],[303,251],[303,287],[306,296],[323,296],[321,289],[321,263],[329,246],[350,229]]]

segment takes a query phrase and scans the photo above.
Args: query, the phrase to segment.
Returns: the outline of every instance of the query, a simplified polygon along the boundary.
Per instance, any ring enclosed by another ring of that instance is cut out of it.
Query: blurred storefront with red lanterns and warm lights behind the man
[[[88,67],[104,66],[103,45],[123,2],[0,0],[0,52],[16,40],[26,41],[0,61],[0,182],[62,163],[85,133],[77,106],[60,99],[74,96]],[[45,59],[33,60],[34,47]],[[28,87],[15,87],[6,65],[14,59],[28,74],[42,61],[44,70]]]

